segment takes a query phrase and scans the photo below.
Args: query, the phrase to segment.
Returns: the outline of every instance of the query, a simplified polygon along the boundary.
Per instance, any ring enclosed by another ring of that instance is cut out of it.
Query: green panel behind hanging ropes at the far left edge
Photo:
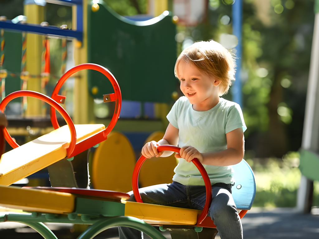
[[[5,94],[9,95],[20,90],[20,71],[22,56],[22,36],[21,33],[4,32],[4,69],[8,71],[5,79]],[[20,102],[20,98],[11,102]]]

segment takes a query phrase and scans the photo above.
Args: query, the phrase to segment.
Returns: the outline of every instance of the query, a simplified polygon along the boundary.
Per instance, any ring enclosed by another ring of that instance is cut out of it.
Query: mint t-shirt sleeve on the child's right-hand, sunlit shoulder
[[[225,126],[225,133],[229,133],[234,129],[242,128],[243,132],[247,129],[244,116],[242,115],[241,108],[238,104],[232,105],[227,115]]]

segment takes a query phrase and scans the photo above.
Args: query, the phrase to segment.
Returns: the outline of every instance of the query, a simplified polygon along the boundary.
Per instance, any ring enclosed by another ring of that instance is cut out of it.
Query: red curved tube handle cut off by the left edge
[[[71,141],[70,141],[70,145],[69,148],[67,148],[66,152],[67,152],[67,157],[69,157],[74,148],[75,148],[75,144],[77,141],[77,134],[75,132],[75,127],[74,124],[69,116],[69,114],[62,108],[61,105],[59,105],[58,103],[56,103],[56,101],[54,101],[53,99],[51,99],[50,97],[43,95],[39,92],[35,92],[35,91],[16,91],[13,92],[9,95],[7,95],[2,102],[0,103],[0,110],[2,112],[4,112],[4,108],[5,106],[13,99],[21,97],[21,96],[30,96],[33,98],[38,98],[43,100],[44,102],[48,103],[49,105],[51,105],[51,107],[54,107],[64,118],[64,120],[66,121],[66,123],[69,126],[70,132],[71,132]],[[17,144],[15,141],[13,141],[13,139],[11,138],[10,134],[8,133],[8,130],[6,127],[4,127],[3,129],[3,133],[4,133],[4,138],[6,139],[6,141],[11,145],[12,148],[18,148],[19,144]]]

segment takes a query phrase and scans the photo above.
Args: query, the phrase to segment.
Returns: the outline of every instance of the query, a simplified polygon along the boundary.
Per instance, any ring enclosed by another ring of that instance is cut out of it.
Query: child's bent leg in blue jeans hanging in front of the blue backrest
[[[242,239],[241,219],[232,194],[225,188],[212,187],[211,207],[208,215],[214,220],[221,239]]]

